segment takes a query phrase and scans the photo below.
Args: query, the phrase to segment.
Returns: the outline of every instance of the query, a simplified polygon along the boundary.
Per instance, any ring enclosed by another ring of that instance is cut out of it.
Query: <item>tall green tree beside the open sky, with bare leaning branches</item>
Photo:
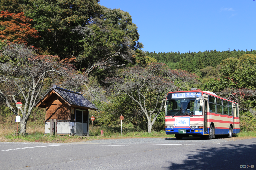
[[[132,23],[128,12],[120,9],[103,8],[103,15],[94,18],[85,26],[77,26],[73,32],[83,38],[84,52],[76,58],[86,68],[85,73],[93,70],[107,70],[132,62],[141,51],[142,43],[138,42],[137,26]]]

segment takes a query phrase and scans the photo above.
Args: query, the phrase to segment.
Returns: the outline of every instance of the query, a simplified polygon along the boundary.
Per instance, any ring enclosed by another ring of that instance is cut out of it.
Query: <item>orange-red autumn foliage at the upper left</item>
[[[38,32],[32,28],[30,19],[24,13],[10,13],[1,11],[0,14],[0,39],[7,42],[27,44],[28,39],[38,38]]]

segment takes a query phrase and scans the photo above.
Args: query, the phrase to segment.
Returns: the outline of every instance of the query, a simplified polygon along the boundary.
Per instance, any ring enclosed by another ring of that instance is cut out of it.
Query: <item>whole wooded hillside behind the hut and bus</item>
[[[200,88],[238,102],[241,129],[256,130],[255,50],[143,51],[129,12],[99,0],[1,0],[0,11],[1,124],[22,101],[22,133],[43,126],[35,103],[57,85],[99,108],[94,125],[116,126],[122,114],[151,132],[164,127],[168,92]]]

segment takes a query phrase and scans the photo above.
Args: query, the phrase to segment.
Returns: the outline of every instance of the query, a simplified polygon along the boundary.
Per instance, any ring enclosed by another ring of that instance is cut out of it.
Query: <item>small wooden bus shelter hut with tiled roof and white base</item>
[[[56,85],[36,103],[36,107],[46,109],[44,133],[55,132],[55,135],[88,135],[89,110],[97,110],[80,92]]]

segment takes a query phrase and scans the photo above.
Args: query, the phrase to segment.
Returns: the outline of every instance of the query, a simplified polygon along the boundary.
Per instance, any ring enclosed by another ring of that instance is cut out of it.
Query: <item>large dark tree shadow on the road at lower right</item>
[[[184,153],[180,153],[184,154]],[[191,151],[186,154],[188,159],[182,164],[170,162],[169,167],[165,169],[172,170],[211,170],[211,169],[240,169],[240,165],[254,165],[254,168],[241,169],[256,169],[256,143],[252,145],[232,145],[223,144],[221,147],[202,147],[196,151]],[[172,153],[170,153],[172,157]]]

